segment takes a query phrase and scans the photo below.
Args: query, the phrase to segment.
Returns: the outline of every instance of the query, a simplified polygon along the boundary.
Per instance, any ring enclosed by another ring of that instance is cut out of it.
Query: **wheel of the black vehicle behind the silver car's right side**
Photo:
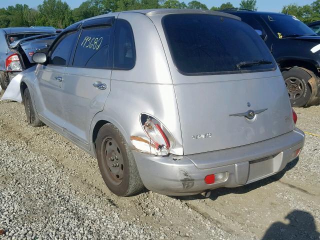
[[[311,96],[311,88],[308,80],[310,74],[300,67],[292,67],[288,71],[282,71],[285,86],[288,90],[291,105],[303,107]]]

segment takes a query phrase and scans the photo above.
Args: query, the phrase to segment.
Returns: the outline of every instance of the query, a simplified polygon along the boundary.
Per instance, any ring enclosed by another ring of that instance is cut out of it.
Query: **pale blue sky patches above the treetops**
[[[71,8],[78,7],[82,1],[84,0],[64,0],[69,4]],[[180,0],[181,1],[181,0]],[[235,7],[237,7],[240,3],[240,0],[199,0],[200,2],[206,4],[206,6],[210,9],[213,5],[220,6],[221,3],[231,2]],[[257,0],[257,8],[259,11],[274,11],[279,12],[282,9],[282,6],[288,5],[291,3],[296,3],[298,5],[310,4],[314,0]],[[41,4],[43,0],[0,0],[0,8],[7,7],[8,5],[19,4],[27,4],[29,7],[36,8],[38,4]],[[189,2],[189,0],[184,0],[185,3]]]

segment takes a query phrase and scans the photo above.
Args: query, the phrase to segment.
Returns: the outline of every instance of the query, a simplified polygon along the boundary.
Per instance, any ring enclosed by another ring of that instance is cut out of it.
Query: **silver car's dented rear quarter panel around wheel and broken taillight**
[[[91,139],[96,122],[105,120],[121,131],[132,149],[151,153],[151,150],[146,151],[148,149],[145,146],[137,149],[137,144],[133,144],[143,143],[136,140],[146,137],[140,123],[140,113],[144,112],[165,125],[174,137],[174,153],[182,155],[175,92],[159,34],[153,22],[143,14],[121,12],[118,17],[127,20],[132,27],[136,61],[130,70],[112,70],[110,94],[103,111],[98,112],[92,120]]]

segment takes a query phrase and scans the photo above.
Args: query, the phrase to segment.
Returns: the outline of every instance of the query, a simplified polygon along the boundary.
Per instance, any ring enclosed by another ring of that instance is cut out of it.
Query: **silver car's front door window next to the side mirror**
[[[74,45],[76,31],[68,32],[60,37],[58,42],[53,46],[52,53],[48,64],[66,65]]]

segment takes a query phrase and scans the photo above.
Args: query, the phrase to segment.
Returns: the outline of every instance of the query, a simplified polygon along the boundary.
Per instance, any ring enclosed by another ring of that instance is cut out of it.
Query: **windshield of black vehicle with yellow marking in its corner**
[[[262,18],[278,38],[316,35],[312,29],[291,15],[263,15]]]

